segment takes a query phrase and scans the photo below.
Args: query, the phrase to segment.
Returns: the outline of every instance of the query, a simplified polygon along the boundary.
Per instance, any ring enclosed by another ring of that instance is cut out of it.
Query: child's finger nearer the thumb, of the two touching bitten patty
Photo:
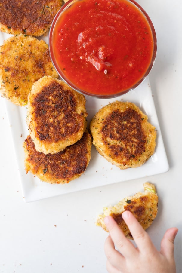
[[[155,249],[152,241],[150,240],[149,235],[143,227],[140,225],[140,223],[137,221],[137,219],[134,217],[134,215],[130,211],[124,211],[122,214],[122,218],[124,219],[126,225],[128,226],[135,243],[137,244],[138,249],[142,251],[147,251],[148,253],[153,251]],[[147,250],[146,250],[147,245]]]

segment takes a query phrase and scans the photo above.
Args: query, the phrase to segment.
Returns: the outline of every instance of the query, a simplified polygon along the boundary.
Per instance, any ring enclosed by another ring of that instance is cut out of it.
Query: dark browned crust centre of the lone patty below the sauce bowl
[[[145,152],[146,135],[142,123],[142,115],[131,108],[124,112],[113,111],[104,119],[101,130],[104,144],[108,145],[108,138],[117,142],[109,146],[111,157],[118,158],[122,152],[123,158],[129,161]],[[118,145],[119,141],[122,146]]]

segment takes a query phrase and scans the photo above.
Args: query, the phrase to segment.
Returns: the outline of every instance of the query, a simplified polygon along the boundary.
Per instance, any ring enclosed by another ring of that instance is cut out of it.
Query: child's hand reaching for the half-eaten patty
[[[123,212],[122,217],[130,229],[137,248],[125,237],[114,219],[106,216],[104,222],[110,232],[104,246],[107,271],[110,273],[176,273],[174,239],[178,229],[171,228],[165,232],[159,252],[130,211]],[[115,249],[115,246],[119,251]]]

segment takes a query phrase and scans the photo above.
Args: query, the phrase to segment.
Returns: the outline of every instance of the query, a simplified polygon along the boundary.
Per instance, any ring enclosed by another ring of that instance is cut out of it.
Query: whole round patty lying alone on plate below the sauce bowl
[[[120,169],[139,167],[154,153],[156,130],[130,102],[113,102],[92,118],[90,131],[97,151]]]

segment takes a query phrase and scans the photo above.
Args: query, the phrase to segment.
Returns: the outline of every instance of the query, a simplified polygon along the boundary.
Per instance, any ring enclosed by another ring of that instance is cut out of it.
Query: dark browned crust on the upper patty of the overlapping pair
[[[64,91],[60,83],[52,81],[34,96],[31,106],[34,108],[36,137],[39,140],[57,142],[69,138],[84,127],[85,118],[76,112],[78,101],[72,90],[68,88]],[[62,114],[64,117],[60,119]]]

